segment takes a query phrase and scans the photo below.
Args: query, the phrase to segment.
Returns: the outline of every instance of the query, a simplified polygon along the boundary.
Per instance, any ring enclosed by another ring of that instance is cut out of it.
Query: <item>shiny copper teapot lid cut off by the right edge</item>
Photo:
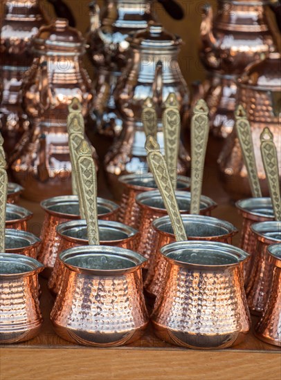
[[[280,69],[280,53],[271,52],[266,59],[250,64],[246,67],[242,77],[238,79],[239,85],[242,87],[255,87],[271,91],[280,91]]]

